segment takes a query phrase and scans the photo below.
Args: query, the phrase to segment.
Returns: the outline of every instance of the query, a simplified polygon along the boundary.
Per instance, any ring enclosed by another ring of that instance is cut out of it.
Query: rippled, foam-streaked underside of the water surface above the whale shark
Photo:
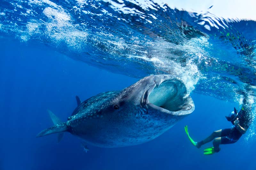
[[[39,42],[132,77],[174,74],[189,92],[255,95],[256,22],[171,9],[153,1],[2,1],[0,35]],[[49,56],[51,57],[51,56]]]

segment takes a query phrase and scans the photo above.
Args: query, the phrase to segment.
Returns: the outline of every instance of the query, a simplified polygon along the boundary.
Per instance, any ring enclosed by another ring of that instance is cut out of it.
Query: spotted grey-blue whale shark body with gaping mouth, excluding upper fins
[[[85,100],[66,123],[45,129],[37,137],[68,131],[99,147],[136,145],[163,134],[194,109],[180,78],[148,76],[121,91]]]

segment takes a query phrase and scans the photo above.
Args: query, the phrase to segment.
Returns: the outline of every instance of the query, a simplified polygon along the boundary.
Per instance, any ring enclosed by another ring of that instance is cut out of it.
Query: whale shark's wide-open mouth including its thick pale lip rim
[[[194,102],[187,95],[183,82],[167,79],[157,84],[150,86],[144,93],[143,98],[148,107],[172,115],[187,115],[194,111]]]

